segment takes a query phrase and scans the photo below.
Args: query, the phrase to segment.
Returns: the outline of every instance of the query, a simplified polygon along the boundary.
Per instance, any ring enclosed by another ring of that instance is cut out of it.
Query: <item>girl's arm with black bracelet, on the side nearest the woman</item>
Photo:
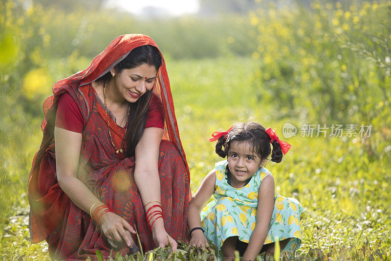
[[[215,192],[216,183],[216,170],[211,170],[205,179],[202,181],[201,186],[195,192],[192,200],[189,203],[189,214],[187,218],[187,225],[189,230],[195,227],[201,227],[201,210],[208,202],[209,198]],[[208,240],[202,233],[202,230],[197,229],[192,232],[189,245],[194,245],[196,248],[200,247],[205,250],[205,245],[208,245]]]

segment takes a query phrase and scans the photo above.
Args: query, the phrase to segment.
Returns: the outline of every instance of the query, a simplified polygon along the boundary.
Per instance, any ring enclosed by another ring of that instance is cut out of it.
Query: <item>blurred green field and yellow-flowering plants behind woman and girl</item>
[[[152,10],[137,17],[105,0],[0,0],[1,238],[4,226],[28,237],[26,226],[12,226],[9,217],[28,214],[28,173],[53,83],[86,68],[116,36],[144,33],[168,65],[193,192],[218,160],[204,141],[238,119],[372,124],[370,137],[289,139],[294,156],[271,169],[282,173],[276,190],[308,207],[306,250],[320,240],[338,242],[335,233],[349,226],[352,241],[368,229],[364,234],[390,246],[382,236],[390,222],[385,230],[366,221],[390,219],[391,1],[200,0],[199,6],[193,15]],[[342,206],[342,225],[333,204]],[[0,241],[0,250],[7,247]],[[31,247],[21,251],[40,259]]]

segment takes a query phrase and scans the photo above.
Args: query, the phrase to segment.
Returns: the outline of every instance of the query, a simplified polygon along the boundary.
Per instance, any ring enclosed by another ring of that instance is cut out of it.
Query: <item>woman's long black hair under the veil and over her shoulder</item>
[[[162,64],[160,51],[151,45],[140,46],[132,49],[125,59],[114,66],[116,73],[120,73],[125,69],[132,69],[142,64],[154,66],[156,71],[159,70]],[[107,83],[112,78],[110,71],[97,79],[97,82]],[[157,79],[156,79],[157,80]],[[141,135],[145,129],[147,121],[150,100],[152,97],[153,88],[141,95],[136,102],[130,102],[130,114],[128,118],[128,129],[125,134],[126,155],[131,157],[134,155],[134,150],[137,143],[140,141]]]

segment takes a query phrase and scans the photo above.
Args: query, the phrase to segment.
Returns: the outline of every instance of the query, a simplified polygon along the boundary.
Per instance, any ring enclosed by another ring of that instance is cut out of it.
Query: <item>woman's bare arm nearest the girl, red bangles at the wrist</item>
[[[136,159],[134,181],[140,192],[145,211],[153,205],[156,205],[156,202],[151,201],[161,202],[158,160],[162,137],[163,129],[155,127],[146,128],[134,151]],[[150,213],[154,210],[160,210],[160,208],[154,207]],[[155,220],[155,217],[152,217],[150,223]],[[156,222],[153,223],[152,237],[157,246],[165,247],[169,242],[173,250],[176,250],[178,246],[177,242],[167,234],[166,229],[164,228],[163,218],[158,218],[156,219]]]

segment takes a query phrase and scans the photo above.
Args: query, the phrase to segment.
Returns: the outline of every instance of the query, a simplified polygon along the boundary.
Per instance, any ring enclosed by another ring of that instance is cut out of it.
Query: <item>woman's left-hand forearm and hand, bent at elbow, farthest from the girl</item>
[[[54,137],[56,141],[58,183],[70,200],[89,214],[91,206],[101,201],[76,177],[82,146],[82,134],[54,127]],[[95,205],[91,213],[97,207]],[[125,230],[128,230],[131,233],[135,233],[134,229],[119,215],[111,212],[103,214],[101,227],[104,235],[110,240],[121,242],[122,238],[124,238],[128,246],[134,244],[131,237],[128,237],[125,232]]]

